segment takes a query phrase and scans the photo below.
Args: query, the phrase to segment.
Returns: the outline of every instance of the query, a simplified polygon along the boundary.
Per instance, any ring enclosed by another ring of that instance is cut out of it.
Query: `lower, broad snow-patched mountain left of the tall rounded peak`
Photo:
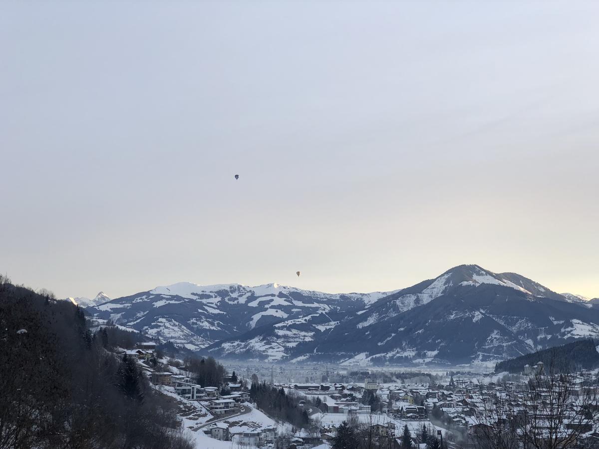
[[[97,318],[197,350],[285,318],[352,314],[394,292],[331,294],[265,284],[199,286],[182,282],[89,308]]]

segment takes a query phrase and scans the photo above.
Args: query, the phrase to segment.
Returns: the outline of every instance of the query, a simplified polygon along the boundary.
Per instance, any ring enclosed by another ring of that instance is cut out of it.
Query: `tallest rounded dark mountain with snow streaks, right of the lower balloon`
[[[599,337],[599,310],[583,306],[521,275],[461,265],[364,310],[281,320],[206,350],[348,365],[487,362]]]

